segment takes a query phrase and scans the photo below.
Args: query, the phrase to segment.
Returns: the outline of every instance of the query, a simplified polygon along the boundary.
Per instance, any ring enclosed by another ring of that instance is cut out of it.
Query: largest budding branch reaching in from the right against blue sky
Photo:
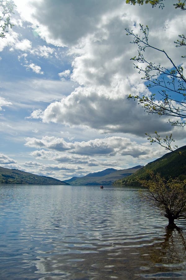
[[[144,73],[144,77],[142,80],[148,81],[147,88],[151,89],[152,87],[158,86],[161,87],[162,90],[158,91],[161,98],[159,100],[155,99],[156,94],[150,94],[149,96],[131,96],[129,95],[129,99],[133,98],[134,100],[138,100],[138,103],[142,104],[142,107],[148,113],[158,114],[159,116],[167,115],[171,117],[186,117],[186,78],[183,74],[183,67],[176,66],[176,64],[172,61],[169,55],[166,53],[164,49],[158,49],[151,44],[148,43],[148,26],[144,28],[143,25],[140,25],[140,30],[142,31],[142,38],[140,35],[134,34],[133,30],[125,29],[127,31],[126,35],[132,35],[133,41],[130,42],[132,44],[137,44],[138,46],[138,57],[133,57],[131,60],[137,61],[138,64],[134,63],[134,68],[138,69],[138,73]],[[183,40],[184,35],[182,35]],[[185,45],[182,41],[177,40],[176,46]],[[161,64],[155,64],[152,62],[148,62],[143,52],[147,48],[155,49],[164,54],[164,56],[169,60],[172,67],[171,70],[161,66]],[[139,66],[139,64],[145,64],[146,66]],[[174,95],[173,95],[174,94]],[[176,95],[175,95],[176,94]],[[176,96],[176,97],[173,97]],[[181,96],[181,98],[180,98]],[[179,104],[179,106],[178,106]],[[186,125],[185,122],[176,121],[172,122],[172,125]]]

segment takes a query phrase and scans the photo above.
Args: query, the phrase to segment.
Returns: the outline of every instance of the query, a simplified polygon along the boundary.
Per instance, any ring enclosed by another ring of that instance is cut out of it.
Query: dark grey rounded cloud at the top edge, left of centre
[[[122,2],[84,0],[79,5],[77,1],[37,1],[32,3],[30,21],[37,22],[37,31],[48,43],[67,46],[97,29],[103,15]]]

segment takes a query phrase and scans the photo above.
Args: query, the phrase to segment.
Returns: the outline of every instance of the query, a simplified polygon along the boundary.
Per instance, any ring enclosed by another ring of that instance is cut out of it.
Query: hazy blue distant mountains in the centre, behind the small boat
[[[121,179],[130,174],[133,174],[143,166],[138,165],[129,169],[116,170],[114,168],[107,168],[103,171],[90,173],[83,177],[72,177],[69,180],[65,180],[66,183],[70,183],[73,185],[100,185],[107,184],[111,185],[117,179]]]

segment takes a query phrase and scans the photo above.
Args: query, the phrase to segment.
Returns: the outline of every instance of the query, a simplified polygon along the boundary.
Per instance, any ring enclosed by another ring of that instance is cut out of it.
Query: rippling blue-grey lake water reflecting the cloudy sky
[[[137,189],[0,185],[0,279],[186,279],[186,221]]]

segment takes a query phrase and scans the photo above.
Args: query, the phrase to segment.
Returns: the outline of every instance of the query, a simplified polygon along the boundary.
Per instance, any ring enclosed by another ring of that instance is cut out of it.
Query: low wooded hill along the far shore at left
[[[69,185],[48,176],[39,176],[18,169],[0,167],[0,184]]]

